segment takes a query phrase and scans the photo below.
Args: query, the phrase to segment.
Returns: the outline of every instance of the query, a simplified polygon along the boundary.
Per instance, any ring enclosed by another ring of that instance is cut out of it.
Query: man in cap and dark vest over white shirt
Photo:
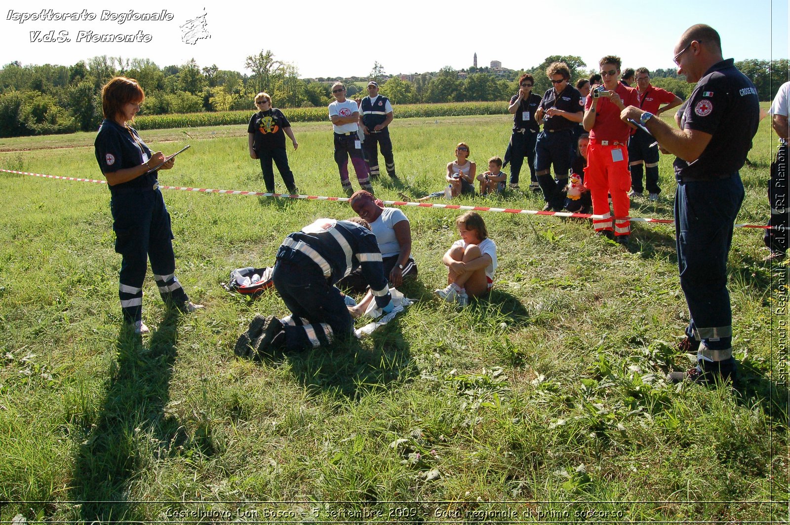
[[[359,106],[359,127],[365,133],[367,161],[371,165],[371,178],[378,178],[378,146],[382,148],[382,156],[386,163],[387,174],[397,178],[395,159],[393,157],[393,141],[389,138],[389,122],[393,122],[393,107],[386,96],[378,94],[378,84],[370,81],[367,84],[367,96]],[[378,146],[377,146],[378,144]]]

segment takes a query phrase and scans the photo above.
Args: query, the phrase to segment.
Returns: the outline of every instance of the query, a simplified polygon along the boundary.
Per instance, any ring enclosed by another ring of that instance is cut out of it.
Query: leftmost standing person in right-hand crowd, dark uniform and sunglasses
[[[510,144],[507,144],[505,164],[510,162],[510,187],[518,188],[518,175],[521,174],[521,165],[526,157],[529,163],[529,189],[540,191],[535,176],[535,142],[540,131],[535,111],[540,104],[540,96],[532,92],[534,84],[532,75],[524,73],[518,79],[518,94],[510,98],[507,111],[513,115],[513,134],[510,135]]]

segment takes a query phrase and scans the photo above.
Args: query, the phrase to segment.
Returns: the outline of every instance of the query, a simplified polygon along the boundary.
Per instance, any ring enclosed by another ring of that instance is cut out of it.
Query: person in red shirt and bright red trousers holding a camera
[[[628,171],[628,137],[630,125],[620,120],[620,111],[626,106],[638,106],[637,90],[628,88],[617,80],[620,58],[605,56],[600,59],[600,74],[604,84],[590,91],[585,103],[582,124],[590,133],[585,168],[585,186],[592,197],[592,213],[604,216],[593,219],[596,234],[614,238],[626,244],[630,235],[628,216],[630,201],[628,189],[631,174]],[[614,236],[608,196],[615,212]]]

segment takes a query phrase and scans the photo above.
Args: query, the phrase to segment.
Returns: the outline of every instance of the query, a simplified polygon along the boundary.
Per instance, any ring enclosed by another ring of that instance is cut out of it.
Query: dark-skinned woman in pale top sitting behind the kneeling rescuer
[[[390,286],[399,287],[404,277],[417,275],[417,264],[412,259],[412,229],[408,219],[397,208],[385,208],[372,193],[360,189],[348,200],[354,212],[371,225],[378,249],[382,252],[384,275]],[[354,291],[367,290],[362,275],[351,273],[338,283]]]

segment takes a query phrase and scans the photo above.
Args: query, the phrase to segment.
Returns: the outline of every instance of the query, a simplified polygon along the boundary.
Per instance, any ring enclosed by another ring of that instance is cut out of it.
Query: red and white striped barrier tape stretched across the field
[[[59,178],[64,181],[77,181],[77,182],[95,182],[97,184],[107,184],[107,181],[98,181],[92,178],[75,178],[75,177],[60,177],[58,175],[44,175],[40,173],[28,173],[27,171],[14,171],[4,170],[0,171],[5,173],[13,173],[19,175],[31,175],[33,177],[42,178]],[[319,197],[315,195],[288,195],[287,193],[263,193],[259,191],[239,191],[238,189],[209,189],[209,188],[186,188],[184,186],[159,186],[160,189],[181,189],[183,191],[196,191],[201,193],[227,193],[229,195],[253,195],[257,197],[284,197],[288,199],[307,199],[315,201],[337,201],[347,202],[348,197]],[[490,208],[487,206],[461,206],[460,204],[439,204],[434,202],[407,202],[407,201],[382,201],[384,204],[392,206],[413,206],[415,208],[446,208],[451,210],[463,210],[474,212],[499,212],[499,213],[516,213],[522,215],[541,215],[541,216],[556,216],[556,217],[574,217],[577,219],[616,219],[611,217],[604,217],[600,215],[592,215],[590,213],[570,213],[570,212],[543,212],[537,210],[523,210],[519,208]],[[674,224],[672,219],[653,219],[649,217],[627,217],[632,223],[659,223],[659,224]],[[762,224],[735,224],[736,228],[762,228],[763,230],[770,229],[769,226]]]

